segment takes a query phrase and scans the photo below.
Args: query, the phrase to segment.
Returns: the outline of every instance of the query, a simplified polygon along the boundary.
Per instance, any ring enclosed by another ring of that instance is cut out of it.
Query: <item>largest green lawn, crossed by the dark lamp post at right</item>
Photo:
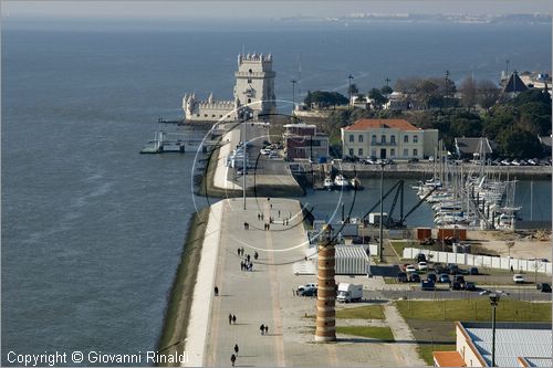
[[[398,301],[404,318],[424,320],[490,320],[488,297],[452,301]],[[551,303],[531,303],[502,299],[499,302],[499,322],[551,322]]]

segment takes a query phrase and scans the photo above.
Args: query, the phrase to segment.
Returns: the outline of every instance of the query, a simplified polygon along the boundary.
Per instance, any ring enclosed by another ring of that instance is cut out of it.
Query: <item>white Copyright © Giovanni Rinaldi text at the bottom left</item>
[[[8,361],[24,367],[53,367],[66,364],[163,364],[188,362],[188,354],[173,353],[159,354],[158,351],[137,351],[135,354],[106,354],[102,351],[44,351],[43,354],[8,353]]]

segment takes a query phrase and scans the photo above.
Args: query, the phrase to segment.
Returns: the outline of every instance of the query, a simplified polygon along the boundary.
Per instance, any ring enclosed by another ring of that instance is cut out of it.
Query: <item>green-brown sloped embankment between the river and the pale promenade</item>
[[[209,208],[192,214],[188,224],[188,235],[173,282],[169,304],[165,313],[164,329],[158,341],[159,355],[171,355],[175,351],[181,354],[185,349],[184,343],[208,218]],[[159,360],[164,361],[163,357]],[[179,364],[160,364],[159,366],[179,366]]]

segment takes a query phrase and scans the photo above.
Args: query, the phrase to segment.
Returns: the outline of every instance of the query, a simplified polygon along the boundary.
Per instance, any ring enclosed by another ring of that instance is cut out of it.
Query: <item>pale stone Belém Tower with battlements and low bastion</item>
[[[239,54],[234,72],[234,101],[197,99],[196,93],[185,94],[185,122],[236,122],[243,118],[267,120],[262,115],[275,112],[272,55]],[[261,115],[261,116],[260,116]]]

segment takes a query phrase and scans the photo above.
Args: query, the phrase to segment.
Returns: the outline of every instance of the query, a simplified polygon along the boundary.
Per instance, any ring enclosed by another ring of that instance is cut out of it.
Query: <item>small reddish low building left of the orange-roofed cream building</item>
[[[328,136],[316,132],[315,125],[305,123],[284,125],[284,155],[288,159],[328,157]]]

